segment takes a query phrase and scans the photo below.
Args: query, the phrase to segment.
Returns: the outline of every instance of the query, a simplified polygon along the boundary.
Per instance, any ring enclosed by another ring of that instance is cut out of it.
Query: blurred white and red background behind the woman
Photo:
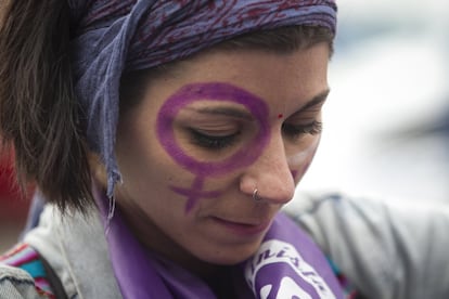
[[[321,147],[300,192],[407,205],[449,203],[449,1],[337,0]],[[27,200],[0,159],[0,251]]]

